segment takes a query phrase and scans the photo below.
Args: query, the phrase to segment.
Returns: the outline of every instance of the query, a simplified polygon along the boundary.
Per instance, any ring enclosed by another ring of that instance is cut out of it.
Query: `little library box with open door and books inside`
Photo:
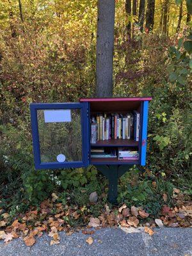
[[[151,97],[31,103],[35,168],[145,165]]]

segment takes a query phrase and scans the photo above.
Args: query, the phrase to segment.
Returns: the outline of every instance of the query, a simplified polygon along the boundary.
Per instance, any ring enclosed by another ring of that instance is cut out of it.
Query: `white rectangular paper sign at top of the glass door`
[[[71,122],[70,109],[44,110],[45,123]]]

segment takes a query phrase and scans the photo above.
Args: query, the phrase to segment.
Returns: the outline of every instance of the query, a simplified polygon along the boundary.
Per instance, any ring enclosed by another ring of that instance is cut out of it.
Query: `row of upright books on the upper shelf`
[[[116,114],[106,113],[91,118],[91,143],[98,140],[127,139],[139,141],[140,113]]]

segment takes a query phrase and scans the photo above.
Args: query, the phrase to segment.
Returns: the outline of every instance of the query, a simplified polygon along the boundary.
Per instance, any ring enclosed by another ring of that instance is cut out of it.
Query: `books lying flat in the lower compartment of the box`
[[[130,148],[92,148],[91,157],[93,158],[116,158],[119,160],[138,160],[139,152]]]

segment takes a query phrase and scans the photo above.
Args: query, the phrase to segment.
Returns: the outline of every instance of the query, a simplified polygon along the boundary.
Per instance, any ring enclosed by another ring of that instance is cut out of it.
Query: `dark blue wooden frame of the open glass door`
[[[40,159],[40,143],[38,135],[38,109],[80,109],[81,110],[81,138],[82,138],[82,161],[73,162],[53,162],[53,163],[41,163]],[[57,169],[57,168],[78,168],[86,167],[89,164],[89,152],[90,152],[90,124],[89,118],[90,110],[88,102],[81,103],[31,103],[31,128],[33,136],[33,154],[35,159],[35,169]]]

